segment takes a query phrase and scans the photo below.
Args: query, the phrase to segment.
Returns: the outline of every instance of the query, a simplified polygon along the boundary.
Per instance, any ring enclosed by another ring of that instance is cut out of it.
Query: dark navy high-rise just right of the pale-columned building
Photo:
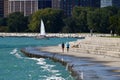
[[[38,0],[38,9],[51,8],[52,0]]]

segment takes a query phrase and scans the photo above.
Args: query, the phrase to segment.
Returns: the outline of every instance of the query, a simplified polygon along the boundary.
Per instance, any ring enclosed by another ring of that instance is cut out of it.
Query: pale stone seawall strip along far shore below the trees
[[[36,37],[39,33],[0,33],[1,37]],[[47,37],[89,37],[89,33],[47,33]],[[111,36],[110,34],[93,34],[92,36]]]

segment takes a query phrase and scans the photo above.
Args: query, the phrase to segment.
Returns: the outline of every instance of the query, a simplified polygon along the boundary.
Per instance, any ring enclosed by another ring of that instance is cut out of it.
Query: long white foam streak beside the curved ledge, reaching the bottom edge
[[[40,67],[43,69],[43,71],[50,72],[51,77],[48,76],[40,76],[43,77],[44,80],[65,80],[62,77],[58,77],[61,74],[59,73],[59,70],[53,69],[56,65],[48,64],[46,63],[44,58],[28,58],[37,61],[36,64],[40,65]]]

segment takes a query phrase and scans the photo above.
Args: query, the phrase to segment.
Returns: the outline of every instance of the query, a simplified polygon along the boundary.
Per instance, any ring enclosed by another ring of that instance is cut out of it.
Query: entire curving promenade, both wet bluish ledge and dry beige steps
[[[120,78],[120,38],[89,35],[85,39],[70,42],[69,52],[65,49],[64,53],[61,44],[49,47],[28,47],[21,51],[29,57],[44,57],[65,63],[66,69],[70,67],[76,80],[81,80],[81,72],[84,73],[85,80],[118,80]]]

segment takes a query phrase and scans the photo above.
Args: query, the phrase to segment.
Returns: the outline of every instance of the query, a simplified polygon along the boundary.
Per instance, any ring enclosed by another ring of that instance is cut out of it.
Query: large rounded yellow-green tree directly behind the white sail
[[[64,25],[62,18],[62,10],[51,8],[41,9],[33,14],[29,29],[33,32],[38,32],[40,21],[43,19],[47,32],[60,32]]]

